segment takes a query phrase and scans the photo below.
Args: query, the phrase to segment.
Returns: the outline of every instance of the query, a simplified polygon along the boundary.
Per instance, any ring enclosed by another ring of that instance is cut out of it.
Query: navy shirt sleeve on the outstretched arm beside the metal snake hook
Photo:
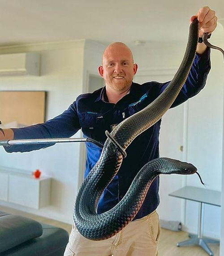
[[[65,112],[59,116],[33,126],[13,128],[14,139],[52,139],[68,138],[80,129],[76,102],[73,102]],[[30,145],[9,145],[4,146],[6,152],[30,152],[41,148],[47,148],[54,143],[30,144]]]

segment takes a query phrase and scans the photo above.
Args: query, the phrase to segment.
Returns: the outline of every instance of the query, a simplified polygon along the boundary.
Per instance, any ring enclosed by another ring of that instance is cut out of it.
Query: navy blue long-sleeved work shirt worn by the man
[[[196,55],[190,74],[172,104],[175,107],[196,95],[206,83],[211,69],[210,49],[199,56]],[[93,93],[78,96],[77,100],[59,116],[43,124],[13,129],[14,139],[65,138],[82,129],[84,136],[104,143],[105,130],[111,132],[125,118],[145,108],[168,86],[169,82],[146,82],[142,85],[132,83],[129,94],[116,104],[107,102],[105,87]],[[103,97],[104,96],[104,97]],[[104,100],[103,100],[104,99]],[[161,120],[139,135],[127,148],[127,157],[112,182],[103,192],[98,204],[98,213],[108,211],[115,206],[127,192],[138,171],[148,161],[159,157],[159,129]],[[28,152],[47,144],[6,146],[7,152]],[[98,161],[102,149],[92,143],[86,143],[87,161],[85,176]],[[153,212],[159,205],[159,178],[149,188],[146,199],[135,219]]]

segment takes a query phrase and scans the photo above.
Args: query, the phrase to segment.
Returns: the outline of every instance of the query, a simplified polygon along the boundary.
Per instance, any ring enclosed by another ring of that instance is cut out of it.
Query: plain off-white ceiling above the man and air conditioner
[[[183,41],[190,17],[216,11],[215,36],[224,38],[224,0],[0,0],[0,46],[91,39]]]

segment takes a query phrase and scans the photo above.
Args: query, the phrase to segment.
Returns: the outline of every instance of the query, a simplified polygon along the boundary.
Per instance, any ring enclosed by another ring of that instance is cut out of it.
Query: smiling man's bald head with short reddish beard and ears
[[[129,48],[123,43],[113,43],[103,54],[99,74],[104,79],[106,87],[122,92],[131,86],[137,68]]]

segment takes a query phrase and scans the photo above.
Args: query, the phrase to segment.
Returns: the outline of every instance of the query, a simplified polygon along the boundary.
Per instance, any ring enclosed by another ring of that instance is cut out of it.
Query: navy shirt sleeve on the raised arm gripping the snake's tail
[[[201,91],[206,84],[210,69],[210,48],[207,48],[206,52],[204,52],[202,55],[196,54],[186,82],[177,95],[177,98],[173,102],[171,108],[178,106],[179,104],[185,102],[187,99],[198,94],[198,92]],[[166,89],[166,87],[168,87],[169,83],[170,81],[159,85],[159,94],[161,94]]]

